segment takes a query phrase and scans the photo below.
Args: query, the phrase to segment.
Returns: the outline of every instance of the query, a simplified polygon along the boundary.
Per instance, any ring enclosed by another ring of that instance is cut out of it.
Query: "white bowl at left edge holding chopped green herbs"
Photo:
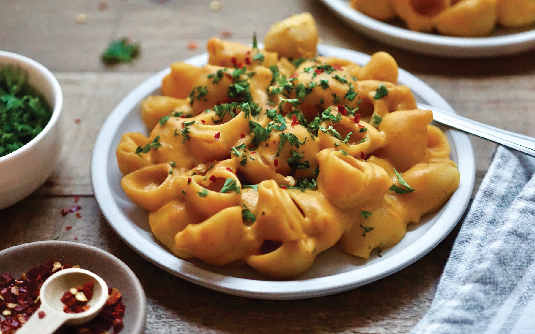
[[[37,61],[0,51],[0,67],[13,65],[28,74],[28,82],[47,100],[52,117],[39,135],[20,149],[0,157],[0,209],[34,192],[50,176],[62,149],[58,129],[62,89],[50,71]]]

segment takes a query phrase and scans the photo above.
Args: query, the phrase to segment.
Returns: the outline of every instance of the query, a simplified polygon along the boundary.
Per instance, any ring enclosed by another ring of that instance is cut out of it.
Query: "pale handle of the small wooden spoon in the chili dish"
[[[40,312],[44,312],[41,317]],[[26,323],[17,330],[17,334],[52,334],[67,321],[67,318],[67,313],[61,314],[48,305],[41,304]]]

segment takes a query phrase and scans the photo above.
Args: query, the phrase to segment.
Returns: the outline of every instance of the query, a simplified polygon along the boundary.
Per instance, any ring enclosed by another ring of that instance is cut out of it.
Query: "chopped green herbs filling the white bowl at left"
[[[16,151],[43,130],[52,111],[27,75],[10,65],[0,68],[0,157]]]

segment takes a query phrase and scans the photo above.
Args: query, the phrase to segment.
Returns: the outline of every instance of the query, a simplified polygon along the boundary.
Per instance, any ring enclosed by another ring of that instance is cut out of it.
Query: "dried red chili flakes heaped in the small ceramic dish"
[[[53,268],[59,268],[52,271]],[[74,266],[79,268],[79,266]],[[49,278],[53,272],[62,269],[73,268],[68,263],[63,266],[50,260],[44,265],[30,268],[27,273],[20,275],[19,279],[14,279],[11,274],[0,275],[0,310],[5,319],[0,321],[0,332],[2,334],[13,334],[24,324],[32,314],[41,305],[39,291],[44,281]],[[85,284],[84,284],[85,285]],[[83,287],[82,287],[83,288]],[[87,297],[89,292],[83,290]],[[62,326],[55,334],[85,333],[85,334],[104,334],[111,332],[118,333],[123,329],[123,317],[125,314],[125,305],[121,302],[121,294],[117,289],[108,289],[108,300],[100,313],[88,323],[77,326]],[[92,297],[92,296],[91,296]],[[37,313],[41,319],[46,316],[43,311]]]

